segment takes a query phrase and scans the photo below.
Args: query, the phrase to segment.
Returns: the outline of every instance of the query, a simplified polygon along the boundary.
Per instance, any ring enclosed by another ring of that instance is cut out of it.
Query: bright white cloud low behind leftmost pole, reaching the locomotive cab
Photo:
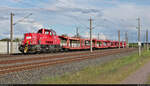
[[[9,21],[1,22],[1,29],[0,29],[0,37],[1,38],[9,38],[10,34],[10,27]],[[23,21],[20,21],[16,23],[16,25],[13,25],[13,31],[14,31],[14,38],[23,38],[24,33],[29,33],[29,32],[37,32],[38,29],[42,28],[43,25],[40,24],[39,22],[34,21],[34,19],[25,19]],[[3,29],[2,29],[3,28]],[[4,30],[5,29],[5,30]]]

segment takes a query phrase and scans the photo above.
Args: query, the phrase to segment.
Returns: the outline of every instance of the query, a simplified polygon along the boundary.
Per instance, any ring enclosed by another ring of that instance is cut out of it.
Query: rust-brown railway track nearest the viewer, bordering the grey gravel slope
[[[61,60],[55,60],[55,61],[0,67],[0,75],[12,73],[12,72],[18,72],[22,70],[30,70],[33,68],[39,68],[43,66],[50,66],[50,65],[61,64],[61,63],[69,63],[69,62],[80,61],[84,59],[97,58],[97,57],[108,56],[108,55],[113,55],[113,54],[122,53],[122,52],[130,52],[130,51],[132,51],[132,49],[123,50],[123,51],[118,50],[118,51],[111,51],[111,52],[104,52],[104,53],[97,53],[97,54],[89,54],[88,56],[80,56],[80,57],[67,58],[67,59],[61,59]]]

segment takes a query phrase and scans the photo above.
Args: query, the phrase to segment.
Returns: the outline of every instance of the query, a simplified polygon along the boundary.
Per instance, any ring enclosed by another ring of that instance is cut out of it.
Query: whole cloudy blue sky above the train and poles
[[[100,39],[117,40],[120,30],[121,40],[128,32],[129,42],[137,42],[139,17],[144,42],[146,29],[150,33],[149,4],[150,0],[0,0],[0,39],[10,36],[12,12],[14,38],[23,39],[24,33],[36,33],[40,28],[69,36],[79,28],[79,34],[88,38],[91,18],[93,38],[99,33]]]

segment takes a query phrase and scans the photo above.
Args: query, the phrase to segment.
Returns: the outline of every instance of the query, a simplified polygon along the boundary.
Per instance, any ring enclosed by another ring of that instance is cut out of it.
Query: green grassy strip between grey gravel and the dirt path
[[[105,64],[89,66],[74,74],[66,73],[63,76],[43,77],[42,84],[115,84],[120,83],[132,72],[150,61],[150,52],[137,53],[112,60]]]

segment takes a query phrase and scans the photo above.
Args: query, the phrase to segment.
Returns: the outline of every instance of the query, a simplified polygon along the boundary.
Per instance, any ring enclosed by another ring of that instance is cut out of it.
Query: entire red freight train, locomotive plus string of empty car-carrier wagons
[[[92,39],[93,49],[118,48],[119,41]],[[120,47],[126,47],[120,41]],[[90,49],[90,39],[58,36],[52,29],[39,29],[37,33],[25,33],[19,46],[22,53],[59,52]]]

